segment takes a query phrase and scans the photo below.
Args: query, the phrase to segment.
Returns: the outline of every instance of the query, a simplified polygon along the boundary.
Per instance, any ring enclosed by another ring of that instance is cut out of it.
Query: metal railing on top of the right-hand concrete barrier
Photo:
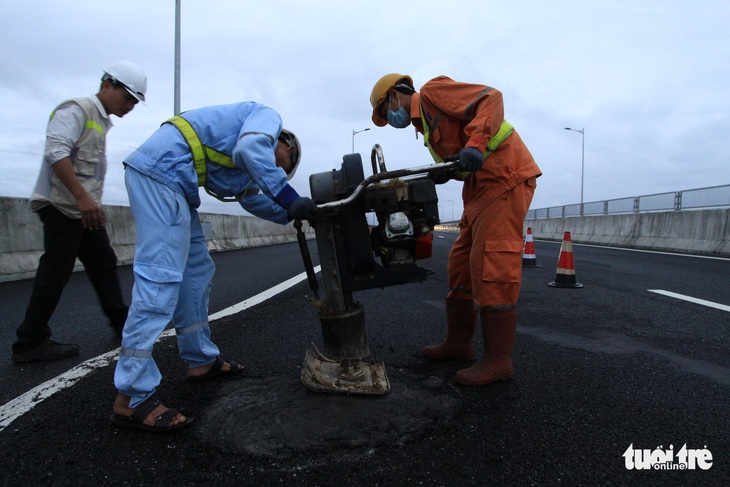
[[[730,184],[529,210],[527,219],[681,211],[730,206]]]

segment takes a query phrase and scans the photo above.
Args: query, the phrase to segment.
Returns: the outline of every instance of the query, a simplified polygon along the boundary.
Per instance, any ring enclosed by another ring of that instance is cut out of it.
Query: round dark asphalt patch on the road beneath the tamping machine
[[[212,444],[264,457],[298,452],[405,444],[438,421],[449,420],[457,401],[436,377],[388,370],[383,396],[311,392],[298,377],[242,379],[206,411],[199,427]],[[231,383],[233,385],[233,383]]]

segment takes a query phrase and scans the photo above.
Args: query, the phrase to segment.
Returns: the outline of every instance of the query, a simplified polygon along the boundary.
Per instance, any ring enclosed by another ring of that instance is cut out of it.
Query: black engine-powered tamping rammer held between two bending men
[[[428,271],[416,261],[431,256],[432,232],[439,223],[433,175],[448,174],[456,164],[387,171],[377,144],[371,162],[373,175],[368,178],[360,154],[344,156],[339,170],[309,178],[319,207],[310,225],[319,251],[321,298],[301,222],[295,222],[322,342],[336,356],[327,358],[314,345],[307,351],[301,379],[317,392],[377,395],[390,390],[383,364],[363,362],[370,354],[365,311],[352,294],[426,279]],[[377,224],[368,224],[369,213]]]

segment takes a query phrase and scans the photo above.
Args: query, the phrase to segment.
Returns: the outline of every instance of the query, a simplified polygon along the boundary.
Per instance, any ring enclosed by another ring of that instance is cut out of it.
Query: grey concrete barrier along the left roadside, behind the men
[[[104,206],[107,232],[120,265],[134,260],[136,236],[129,207]],[[201,213],[203,230],[211,252],[237,250],[296,240],[296,230],[290,223],[278,225],[253,216]],[[307,238],[314,230],[302,227]],[[38,259],[43,254],[43,225],[38,215],[30,211],[26,198],[0,197],[0,282],[35,276]],[[80,262],[76,270],[83,269]]]

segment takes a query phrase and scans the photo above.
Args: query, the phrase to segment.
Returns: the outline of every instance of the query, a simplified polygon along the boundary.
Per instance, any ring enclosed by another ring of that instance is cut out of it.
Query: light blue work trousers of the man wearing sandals
[[[208,254],[198,211],[184,196],[125,169],[129,205],[137,225],[132,304],[124,325],[114,385],[134,408],[154,394],[160,374],[152,349],[172,322],[180,358],[189,367],[215,361],[208,297],[215,265]]]

